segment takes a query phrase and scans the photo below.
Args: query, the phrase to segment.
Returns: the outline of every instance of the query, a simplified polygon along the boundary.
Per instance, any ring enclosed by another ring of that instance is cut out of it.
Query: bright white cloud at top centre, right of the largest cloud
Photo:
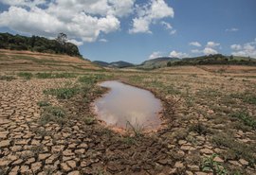
[[[152,33],[150,25],[165,17],[174,17],[174,9],[169,7],[164,0],[151,0],[144,6],[136,6],[137,17],[133,19],[133,27],[129,33]],[[170,24],[162,23],[171,28]]]

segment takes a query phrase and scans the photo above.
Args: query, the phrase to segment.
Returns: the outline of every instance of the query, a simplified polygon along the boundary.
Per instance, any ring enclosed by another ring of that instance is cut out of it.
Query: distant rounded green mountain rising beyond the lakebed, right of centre
[[[137,66],[137,68],[154,69],[166,67],[168,61],[179,61],[179,59],[172,57],[160,57],[149,61],[143,61],[140,65]]]

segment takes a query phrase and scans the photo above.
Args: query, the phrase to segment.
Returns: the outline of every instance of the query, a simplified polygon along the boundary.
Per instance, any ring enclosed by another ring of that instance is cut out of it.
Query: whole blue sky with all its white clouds
[[[64,32],[91,61],[256,58],[255,0],[0,0],[0,32]]]

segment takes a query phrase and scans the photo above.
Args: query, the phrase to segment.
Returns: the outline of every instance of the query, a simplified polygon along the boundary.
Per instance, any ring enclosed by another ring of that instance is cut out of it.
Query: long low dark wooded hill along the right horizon
[[[256,65],[256,59],[215,54],[215,55],[201,56],[201,57],[195,57],[195,58],[185,58],[179,61],[168,61],[167,66],[210,65],[210,64]]]

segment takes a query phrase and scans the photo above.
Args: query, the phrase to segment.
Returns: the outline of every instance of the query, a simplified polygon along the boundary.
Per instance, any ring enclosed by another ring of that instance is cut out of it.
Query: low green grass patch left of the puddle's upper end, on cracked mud
[[[46,95],[57,96],[59,99],[69,99],[80,91],[79,88],[60,88],[60,89],[48,89],[44,93]]]

